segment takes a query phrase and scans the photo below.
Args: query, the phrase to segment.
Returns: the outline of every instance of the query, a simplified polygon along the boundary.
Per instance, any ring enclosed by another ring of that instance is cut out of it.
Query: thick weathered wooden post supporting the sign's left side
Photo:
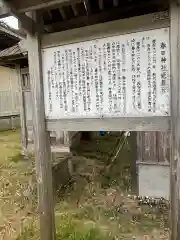
[[[52,161],[49,134],[46,131],[44,111],[44,91],[42,77],[42,57],[40,45],[40,13],[32,13],[33,20],[39,25],[35,34],[27,34],[30,86],[33,104],[33,130],[36,157],[40,209],[41,240],[55,239],[54,197],[52,187]],[[33,30],[33,29],[32,29]]]

